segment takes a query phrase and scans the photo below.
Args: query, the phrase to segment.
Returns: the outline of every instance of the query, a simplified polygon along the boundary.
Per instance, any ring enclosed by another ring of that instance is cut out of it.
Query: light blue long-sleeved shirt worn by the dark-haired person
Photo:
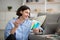
[[[16,19],[12,19],[8,22],[6,28],[5,28],[5,33],[4,37],[5,39],[10,35],[10,30],[14,28],[14,22]],[[32,21],[29,19],[26,19],[22,24],[19,25],[19,27],[16,30],[16,40],[28,40],[28,35],[31,30],[31,24]],[[38,27],[39,29],[43,30],[41,27]]]

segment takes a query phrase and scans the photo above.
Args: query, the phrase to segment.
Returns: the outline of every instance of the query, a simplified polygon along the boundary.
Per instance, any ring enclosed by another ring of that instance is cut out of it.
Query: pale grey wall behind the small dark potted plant
[[[12,11],[16,11],[16,9],[21,5],[21,0],[0,0],[0,11],[7,11],[8,6],[12,6]]]

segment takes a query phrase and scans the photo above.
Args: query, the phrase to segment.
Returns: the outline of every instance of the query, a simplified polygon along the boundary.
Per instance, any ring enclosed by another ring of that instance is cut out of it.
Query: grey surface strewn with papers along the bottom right
[[[30,40],[60,40],[60,36],[58,35],[35,35],[34,33],[30,33]]]

